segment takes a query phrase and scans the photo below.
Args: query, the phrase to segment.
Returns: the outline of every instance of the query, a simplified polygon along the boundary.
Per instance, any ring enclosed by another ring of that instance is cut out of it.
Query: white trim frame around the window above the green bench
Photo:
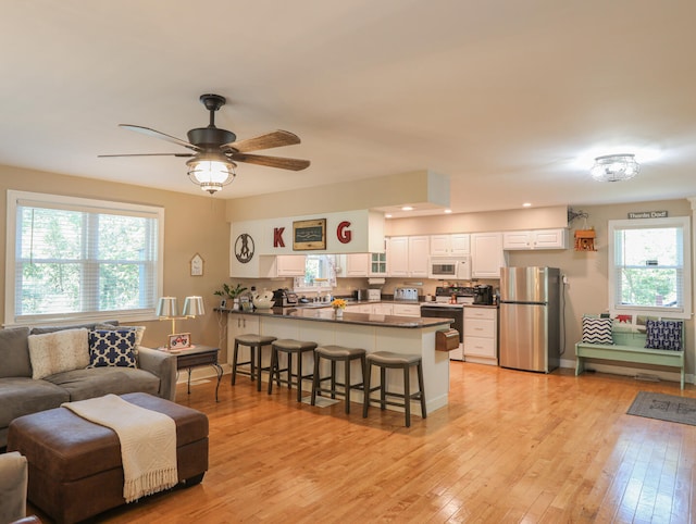
[[[681,310],[674,308],[641,307],[641,305],[619,305],[616,300],[616,264],[614,264],[614,232],[617,229],[649,229],[655,227],[681,227],[682,249],[683,249],[683,274],[682,274],[682,296],[683,307]],[[691,319],[692,316],[692,239],[691,219],[688,216],[672,216],[667,219],[636,219],[636,220],[614,220],[608,223],[608,301],[609,313],[633,314],[647,316],[664,316],[669,319]]]

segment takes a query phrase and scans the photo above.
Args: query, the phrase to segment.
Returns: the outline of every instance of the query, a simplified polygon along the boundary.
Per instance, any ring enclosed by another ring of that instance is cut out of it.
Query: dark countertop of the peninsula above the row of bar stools
[[[350,302],[359,303],[359,302]],[[372,302],[374,303],[374,302]],[[406,303],[406,302],[399,302]],[[271,308],[264,310],[254,311],[233,311],[223,310],[216,308],[215,311],[225,313],[237,313],[243,315],[253,316],[271,316],[277,319],[288,320],[303,320],[303,321],[318,321],[318,322],[337,322],[341,324],[358,324],[368,326],[382,326],[382,327],[408,327],[408,328],[423,328],[432,326],[449,326],[453,320],[451,319],[423,319],[418,316],[396,316],[396,315],[377,315],[369,313],[352,313],[345,311],[343,317],[336,319],[334,316],[334,310],[330,307],[301,307],[301,308]]]

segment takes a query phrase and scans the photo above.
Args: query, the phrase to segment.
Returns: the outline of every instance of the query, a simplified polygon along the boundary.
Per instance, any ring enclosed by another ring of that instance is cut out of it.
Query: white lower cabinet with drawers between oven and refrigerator
[[[464,361],[498,365],[498,310],[464,307]]]

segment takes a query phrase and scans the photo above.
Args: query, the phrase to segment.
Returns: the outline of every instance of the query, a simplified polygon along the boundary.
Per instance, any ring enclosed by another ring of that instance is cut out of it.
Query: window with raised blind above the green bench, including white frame
[[[688,217],[609,221],[613,314],[691,315]]]

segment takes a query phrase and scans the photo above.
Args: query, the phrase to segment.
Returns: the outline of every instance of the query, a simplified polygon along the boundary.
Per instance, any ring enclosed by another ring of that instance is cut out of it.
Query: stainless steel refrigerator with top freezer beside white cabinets
[[[561,275],[558,267],[500,273],[500,365],[549,373],[560,364]]]

